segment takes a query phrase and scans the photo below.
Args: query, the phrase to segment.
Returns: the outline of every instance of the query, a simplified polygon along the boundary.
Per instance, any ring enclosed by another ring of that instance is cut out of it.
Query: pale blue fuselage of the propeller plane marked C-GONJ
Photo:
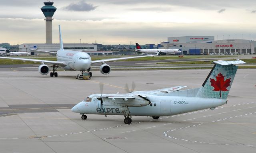
[[[215,108],[226,103],[224,99],[199,98],[185,96],[147,95],[151,104],[141,107],[128,107],[131,116],[170,116]],[[97,98],[91,102],[82,101],[72,108],[72,112],[80,114],[123,115],[120,106],[105,106]]]

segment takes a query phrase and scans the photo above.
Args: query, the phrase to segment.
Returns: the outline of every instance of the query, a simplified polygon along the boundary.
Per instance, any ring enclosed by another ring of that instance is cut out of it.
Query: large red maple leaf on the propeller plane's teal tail
[[[224,80],[224,76],[219,73],[216,76],[216,81],[212,78],[210,78],[210,82],[211,82],[211,86],[214,87],[214,89],[212,91],[220,91],[220,96],[221,96],[221,91],[228,91],[228,86],[230,86],[230,79],[231,78],[227,78],[226,80]]]

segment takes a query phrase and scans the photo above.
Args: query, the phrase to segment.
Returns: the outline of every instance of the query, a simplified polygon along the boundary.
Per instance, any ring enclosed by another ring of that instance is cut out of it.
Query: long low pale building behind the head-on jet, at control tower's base
[[[112,52],[109,51],[97,51],[97,45],[89,44],[89,43],[64,43],[64,49],[66,50],[73,50],[79,51],[84,50],[84,52],[88,53],[89,55],[112,55]],[[33,51],[33,50],[42,50],[42,51],[51,51],[56,52],[60,49],[59,43],[24,43],[19,45],[19,51],[26,51],[29,52],[31,55],[49,55],[49,53],[44,53],[40,51]]]

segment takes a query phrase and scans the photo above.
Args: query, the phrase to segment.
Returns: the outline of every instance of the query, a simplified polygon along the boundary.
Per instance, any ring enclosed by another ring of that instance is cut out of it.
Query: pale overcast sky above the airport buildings
[[[4,0],[0,43],[45,43],[45,0]],[[256,0],[54,0],[53,43],[140,44],[175,36],[256,40]]]

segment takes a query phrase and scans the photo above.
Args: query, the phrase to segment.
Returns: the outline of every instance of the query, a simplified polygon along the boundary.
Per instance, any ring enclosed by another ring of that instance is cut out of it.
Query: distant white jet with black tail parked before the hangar
[[[160,51],[161,55],[166,55],[168,53],[181,53],[179,49],[142,49],[138,43],[136,43],[136,49],[140,53],[158,53]]]

